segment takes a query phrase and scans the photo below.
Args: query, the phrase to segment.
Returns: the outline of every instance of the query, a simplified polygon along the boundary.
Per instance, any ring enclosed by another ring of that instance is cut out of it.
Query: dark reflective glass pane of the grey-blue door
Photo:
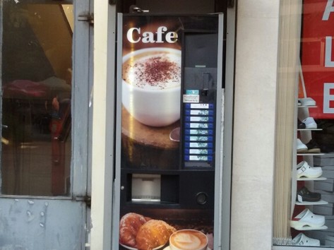
[[[1,194],[69,193],[72,7],[4,1]]]

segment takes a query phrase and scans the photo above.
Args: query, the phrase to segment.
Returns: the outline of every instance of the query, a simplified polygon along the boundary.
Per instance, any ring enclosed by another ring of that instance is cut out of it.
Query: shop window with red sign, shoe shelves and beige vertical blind
[[[273,242],[334,248],[333,0],[281,10]]]

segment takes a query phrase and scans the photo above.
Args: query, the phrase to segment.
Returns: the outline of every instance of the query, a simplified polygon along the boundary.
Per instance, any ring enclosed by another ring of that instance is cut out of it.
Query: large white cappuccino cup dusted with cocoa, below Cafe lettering
[[[180,118],[181,51],[138,49],[123,57],[122,104],[142,124],[168,126]]]

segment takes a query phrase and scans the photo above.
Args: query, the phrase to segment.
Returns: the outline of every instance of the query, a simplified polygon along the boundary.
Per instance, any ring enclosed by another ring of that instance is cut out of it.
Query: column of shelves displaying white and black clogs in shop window
[[[299,88],[299,93],[301,90]],[[305,89],[303,91],[306,95]],[[313,94],[310,92],[310,95]],[[294,213],[290,219],[290,227],[292,228],[290,235],[292,237],[285,244],[290,244],[290,247],[301,246],[303,249],[306,247],[317,248],[321,244],[328,246],[326,242],[323,242],[323,238],[327,235],[323,231],[332,225],[329,225],[331,221],[327,222],[328,227],[325,225],[328,219],[325,215],[334,215],[332,206],[326,206],[332,198],[330,193],[333,195],[333,181],[323,181],[328,177],[333,177],[330,175],[332,171],[334,173],[334,168],[332,169],[328,164],[330,162],[328,158],[331,159],[334,156],[323,156],[324,145],[333,145],[334,148],[333,138],[330,137],[334,133],[334,122],[330,123],[331,130],[327,131],[326,126],[323,125],[324,118],[321,116],[321,110],[318,112],[314,109],[315,107],[317,107],[316,101],[313,98],[298,98],[298,109],[294,117],[297,119],[297,130],[294,131],[297,136],[295,137],[296,141],[294,141],[296,150],[294,150],[293,155],[294,163],[297,163],[297,166],[295,166],[296,168],[292,167],[292,192],[289,193],[292,195],[290,198],[292,198],[291,205]],[[324,131],[324,133],[318,131]],[[330,153],[334,155],[334,150]],[[308,162],[311,166],[319,167],[311,167]],[[332,171],[329,173],[329,170]],[[322,175],[324,177],[321,177]],[[316,231],[319,234],[315,234]]]

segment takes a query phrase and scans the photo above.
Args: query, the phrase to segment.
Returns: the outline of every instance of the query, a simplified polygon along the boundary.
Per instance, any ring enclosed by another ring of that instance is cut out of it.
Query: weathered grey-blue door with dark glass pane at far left
[[[85,244],[92,26],[78,16],[89,11],[88,0],[1,2],[4,246]]]

